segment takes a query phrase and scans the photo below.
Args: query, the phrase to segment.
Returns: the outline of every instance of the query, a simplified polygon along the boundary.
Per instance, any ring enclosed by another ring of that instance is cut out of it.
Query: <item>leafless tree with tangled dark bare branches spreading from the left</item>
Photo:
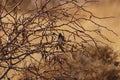
[[[0,4],[0,79],[11,80],[26,73],[22,80],[77,80],[72,73],[65,73],[64,67],[70,68],[71,65],[61,56],[71,54],[75,59],[78,52],[89,56],[89,53],[84,54],[89,52],[87,46],[95,46],[99,54],[98,44],[105,43],[90,33],[112,42],[101,29],[117,36],[94,21],[94,18],[111,17],[97,17],[85,8],[98,1],[32,0],[36,8],[20,13],[24,1],[5,0]],[[82,25],[84,22],[92,23],[96,28],[86,29]],[[54,73],[57,77],[50,75]]]

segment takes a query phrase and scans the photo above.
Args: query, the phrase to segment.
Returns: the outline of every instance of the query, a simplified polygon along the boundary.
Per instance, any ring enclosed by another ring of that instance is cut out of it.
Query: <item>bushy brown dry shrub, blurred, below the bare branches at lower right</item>
[[[112,48],[108,46],[99,46],[98,50],[94,48],[87,47],[89,50],[89,55],[87,51],[81,53],[72,54],[62,54],[58,55],[57,59],[53,57],[53,61],[49,64],[46,62],[45,70],[40,73],[38,80],[119,80],[120,78],[120,67],[119,64],[116,65],[116,56],[118,53],[114,52]],[[34,65],[35,66],[35,65]],[[28,67],[29,68],[29,67]],[[33,69],[35,71],[35,67]],[[36,72],[36,71],[35,71]],[[26,75],[27,76],[24,76]],[[21,76],[22,80],[29,80],[32,74],[30,71],[23,71]],[[35,75],[34,75],[35,76]],[[37,79],[31,79],[37,80]]]

